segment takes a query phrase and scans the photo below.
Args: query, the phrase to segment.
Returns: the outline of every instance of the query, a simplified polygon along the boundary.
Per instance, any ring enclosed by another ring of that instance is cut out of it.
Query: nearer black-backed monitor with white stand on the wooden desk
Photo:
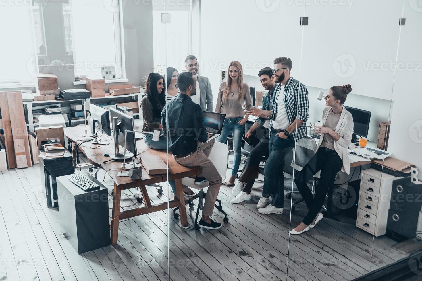
[[[116,119],[116,123],[113,123],[113,134],[114,134],[114,155],[110,155],[111,158],[117,160],[123,160],[124,155],[124,130],[134,131],[133,117],[120,112],[114,108],[110,108],[111,120]],[[133,132],[127,132],[126,137],[126,159],[132,158],[136,155],[136,142],[135,134]]]

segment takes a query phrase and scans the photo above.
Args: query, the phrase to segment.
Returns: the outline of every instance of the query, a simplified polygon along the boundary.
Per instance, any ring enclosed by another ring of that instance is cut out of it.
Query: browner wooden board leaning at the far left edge
[[[7,102],[7,93],[8,92],[0,92],[0,110],[1,110],[2,120],[3,120],[3,133],[4,133],[4,142],[6,146],[7,166],[9,169],[12,169],[16,167],[16,161],[15,161],[15,149],[14,149],[13,137],[12,137],[12,126],[10,123],[9,105]],[[22,99],[22,96],[21,96],[21,99]]]

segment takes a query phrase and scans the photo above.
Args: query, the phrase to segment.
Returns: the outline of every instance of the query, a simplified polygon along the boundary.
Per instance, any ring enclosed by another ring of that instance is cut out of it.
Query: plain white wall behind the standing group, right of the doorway
[[[288,56],[291,75],[308,88],[310,120],[319,119],[324,108],[316,101],[320,89],[326,93],[330,86],[349,83],[353,91],[346,105],[372,112],[368,139],[376,142],[379,123],[392,120],[388,150],[422,168],[422,8],[407,0],[354,0],[350,7],[307,1],[306,11],[297,4],[302,1],[272,1],[278,6],[269,8],[254,2],[262,1],[202,0],[200,73],[210,79],[215,99],[221,70],[230,61],[239,60],[250,75],[245,82],[261,90],[257,72],[272,66],[276,57]],[[399,46],[403,9],[406,25]],[[302,28],[304,14],[309,25]],[[283,28],[280,22],[286,23]],[[393,80],[397,52],[398,66],[410,66],[396,71]],[[352,67],[341,72],[347,62]]]

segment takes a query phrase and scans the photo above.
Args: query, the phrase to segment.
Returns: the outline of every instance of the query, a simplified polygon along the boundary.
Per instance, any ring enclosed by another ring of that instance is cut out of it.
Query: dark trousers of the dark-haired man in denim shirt
[[[260,163],[262,158],[268,158],[268,136],[269,130],[262,127],[263,135],[260,139],[260,142],[255,145],[251,152],[249,152],[248,159],[246,159],[245,166],[243,166],[243,171],[239,176],[240,182],[246,182],[243,191],[246,193],[251,193],[252,186],[255,183],[255,179],[258,178]]]

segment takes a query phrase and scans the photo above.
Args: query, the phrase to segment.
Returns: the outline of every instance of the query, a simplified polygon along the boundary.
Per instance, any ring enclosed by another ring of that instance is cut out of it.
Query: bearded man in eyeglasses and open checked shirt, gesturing
[[[254,116],[270,118],[269,156],[264,167],[264,186],[258,201],[261,214],[283,214],[284,205],[284,156],[287,148],[306,136],[308,120],[308,90],[290,76],[292,60],[280,57],[274,60],[276,86],[272,110],[252,108]],[[271,204],[268,204],[271,196]]]

